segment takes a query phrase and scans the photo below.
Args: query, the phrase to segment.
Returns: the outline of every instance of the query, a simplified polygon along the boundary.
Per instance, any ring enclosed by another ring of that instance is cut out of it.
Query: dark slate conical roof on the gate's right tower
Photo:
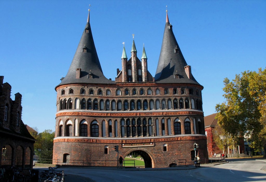
[[[164,28],[163,43],[155,73],[155,82],[158,83],[191,83],[200,85],[195,78],[188,78],[185,66],[188,65],[177,44],[172,25],[169,23],[166,13],[166,23]],[[176,73],[179,79],[175,78]]]

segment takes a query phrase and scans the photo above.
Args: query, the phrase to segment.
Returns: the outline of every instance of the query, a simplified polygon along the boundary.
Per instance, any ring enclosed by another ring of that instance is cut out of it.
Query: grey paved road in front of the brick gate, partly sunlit
[[[90,167],[60,168],[60,170],[64,170],[65,174],[68,175],[66,182],[266,181],[266,171],[264,170],[266,169],[266,159],[229,159],[228,161],[228,163],[217,166],[202,164],[201,168],[195,168],[191,165],[176,168],[117,169]]]

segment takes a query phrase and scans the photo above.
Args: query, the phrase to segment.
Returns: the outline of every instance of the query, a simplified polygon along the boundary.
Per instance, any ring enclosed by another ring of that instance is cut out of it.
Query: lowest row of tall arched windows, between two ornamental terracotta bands
[[[75,122],[78,122],[75,119]],[[184,122],[181,122],[179,118],[176,118],[173,122],[170,118],[164,119],[162,118],[155,119],[155,123],[153,123],[152,118],[148,120],[146,118],[133,118],[133,119],[121,119],[120,120],[120,128],[118,128],[118,121],[115,120],[112,122],[102,121],[101,128],[99,127],[99,123],[94,120],[90,124],[83,119],[79,123],[79,134],[77,131],[73,132],[73,123],[68,120],[65,124],[65,132],[63,135],[63,121],[61,120],[59,123],[58,136],[69,136],[72,137],[73,133],[75,136],[81,137],[150,137],[150,136],[164,136],[164,135],[180,135],[180,134],[192,134],[192,130],[194,130],[195,134],[202,134],[202,125],[201,120],[198,119],[197,123],[195,119],[193,119],[194,128],[192,128],[191,122],[189,118],[186,118]],[[197,124],[197,129],[196,125]],[[173,128],[173,129],[172,129]],[[101,130],[100,130],[101,129]],[[118,136],[119,133],[119,136]]]

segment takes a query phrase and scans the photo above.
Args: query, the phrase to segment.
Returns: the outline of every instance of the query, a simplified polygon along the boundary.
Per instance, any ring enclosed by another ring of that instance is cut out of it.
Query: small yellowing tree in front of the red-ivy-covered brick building
[[[215,144],[225,150],[225,156],[227,156],[227,147],[233,144],[232,137],[221,126],[216,125],[212,130],[213,140]]]

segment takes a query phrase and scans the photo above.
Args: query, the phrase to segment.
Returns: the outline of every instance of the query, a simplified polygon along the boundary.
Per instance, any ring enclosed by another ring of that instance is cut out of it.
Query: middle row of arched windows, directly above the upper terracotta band
[[[75,103],[73,105],[72,99],[68,100],[61,100],[60,101],[60,110],[63,109],[88,109],[88,110],[157,110],[157,109],[199,109],[202,110],[202,102],[201,100],[194,100],[188,98],[180,98],[178,99],[162,99],[162,100],[155,100],[155,102],[151,100],[124,100],[124,101],[115,101],[115,100],[100,100],[98,99],[88,99],[87,101],[83,98],[81,101],[80,99],[76,98]]]

